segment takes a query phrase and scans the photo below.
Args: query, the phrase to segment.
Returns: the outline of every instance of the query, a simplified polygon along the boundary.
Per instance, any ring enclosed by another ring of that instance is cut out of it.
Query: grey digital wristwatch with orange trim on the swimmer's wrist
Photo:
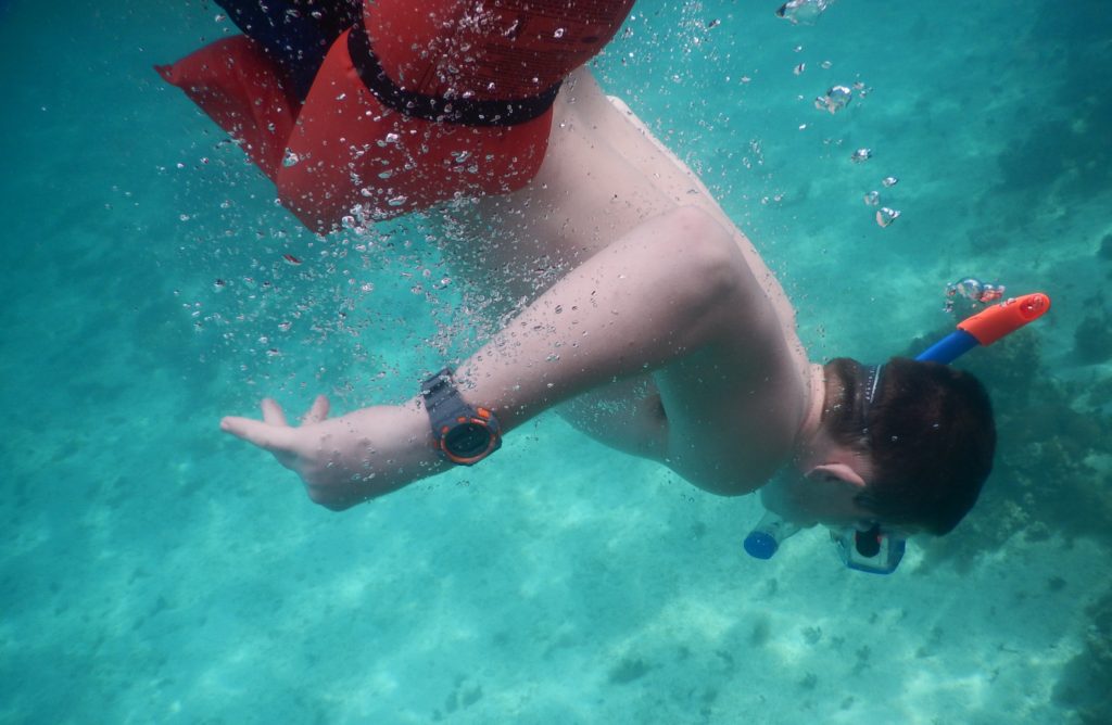
[[[502,446],[498,418],[463,399],[451,379],[451,368],[425,380],[420,395],[433,427],[433,446],[451,463],[474,466]]]

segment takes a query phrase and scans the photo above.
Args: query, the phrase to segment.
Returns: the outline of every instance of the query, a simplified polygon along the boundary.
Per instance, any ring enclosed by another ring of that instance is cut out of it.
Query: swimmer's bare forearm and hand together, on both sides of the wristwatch
[[[699,352],[701,365],[744,367],[747,334],[767,299],[728,231],[679,209],[646,221],[572,270],[456,370],[463,396],[508,431],[596,386]],[[419,397],[338,418],[318,397],[290,426],[274,400],[262,420],[220,427],[296,471],[309,497],[336,510],[448,467],[429,445]]]

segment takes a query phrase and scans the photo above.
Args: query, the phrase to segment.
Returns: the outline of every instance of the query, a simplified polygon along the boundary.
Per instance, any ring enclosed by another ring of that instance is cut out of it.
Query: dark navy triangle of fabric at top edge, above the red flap
[[[216,0],[244,33],[262,46],[305,100],[328,49],[358,18],[358,0]]]

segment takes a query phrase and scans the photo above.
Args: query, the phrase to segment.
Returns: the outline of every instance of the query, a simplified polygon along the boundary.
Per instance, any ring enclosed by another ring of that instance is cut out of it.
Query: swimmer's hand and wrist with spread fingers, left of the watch
[[[383,496],[443,470],[428,444],[428,416],[417,400],[328,417],[317,396],[291,426],[275,400],[262,400],[262,420],[227,417],[220,429],[274,454],[305,481],[309,498],[332,510]]]

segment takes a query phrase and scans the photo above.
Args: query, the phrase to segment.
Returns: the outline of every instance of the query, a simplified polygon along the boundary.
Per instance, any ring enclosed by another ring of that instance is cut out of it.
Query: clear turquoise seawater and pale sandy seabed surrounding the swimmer
[[[1105,2],[841,0],[793,27],[776,2],[642,0],[598,61],[766,256],[814,357],[933,337],[961,277],[1053,297],[969,357],[1001,420],[982,503],[887,578],[817,532],[749,559],[752,497],[552,416],[480,468],[309,504],[220,416],[407,396],[474,345],[479,292],[428,222],[300,230],[160,83],[229,31],[212,6],[43,4],[0,2],[0,722],[1112,718]]]

